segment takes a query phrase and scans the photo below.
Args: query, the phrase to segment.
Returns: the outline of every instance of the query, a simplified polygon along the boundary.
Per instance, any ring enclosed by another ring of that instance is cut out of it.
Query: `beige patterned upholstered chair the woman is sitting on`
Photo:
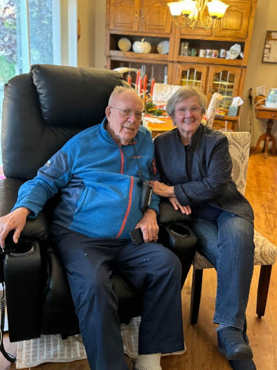
[[[232,178],[238,191],[244,195],[247,180],[247,167],[250,148],[250,133],[224,133],[229,140],[229,150],[233,160]],[[277,247],[255,230],[254,264],[260,265],[257,308],[258,317],[265,314],[267,292],[269,289],[272,265],[276,261]],[[202,288],[203,269],[211,269],[213,265],[202,255],[196,253],[193,260],[193,287],[190,301],[190,323],[197,323]]]

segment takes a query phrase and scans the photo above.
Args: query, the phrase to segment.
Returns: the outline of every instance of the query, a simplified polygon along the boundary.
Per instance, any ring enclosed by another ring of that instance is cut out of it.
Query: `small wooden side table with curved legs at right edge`
[[[266,118],[268,119],[268,121],[267,121],[267,132],[263,133],[258,138],[256,149],[253,154],[257,153],[259,146],[260,146],[260,142],[265,142],[264,148],[262,149],[262,151],[264,153],[264,158],[266,159],[268,157],[269,142],[272,142],[272,154],[275,155],[276,139],[274,135],[271,134],[271,128],[274,125],[274,119],[277,119],[277,109],[256,106],[255,112],[256,112],[257,119]]]

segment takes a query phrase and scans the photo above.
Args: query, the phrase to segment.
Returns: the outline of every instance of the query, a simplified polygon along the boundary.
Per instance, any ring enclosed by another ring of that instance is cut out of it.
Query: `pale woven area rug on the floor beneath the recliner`
[[[129,323],[120,325],[124,352],[130,358],[138,357],[139,325],[141,317],[134,317]],[[168,353],[182,355],[184,351]],[[60,335],[42,335],[38,339],[26,340],[17,344],[17,369],[36,367],[44,362],[72,362],[87,358],[82,336],[73,335],[62,339]],[[23,360],[23,361],[22,361]],[[28,364],[28,366],[27,366]]]

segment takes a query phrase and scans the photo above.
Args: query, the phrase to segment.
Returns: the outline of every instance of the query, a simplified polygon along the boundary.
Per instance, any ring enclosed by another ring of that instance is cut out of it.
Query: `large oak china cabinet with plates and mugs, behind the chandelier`
[[[166,72],[168,84],[198,86],[208,96],[208,102],[214,92],[220,92],[224,96],[220,108],[228,110],[233,96],[242,96],[257,0],[224,0],[229,8],[217,28],[210,30],[200,22],[195,30],[177,27],[167,3],[168,0],[107,0],[106,68],[139,69],[145,65],[148,80],[154,70],[158,83],[164,82]],[[177,19],[179,24],[180,21],[181,16]],[[151,52],[120,51],[118,40],[122,37],[132,44],[145,37],[152,45]],[[159,54],[157,46],[165,40],[170,42],[169,53]],[[197,56],[181,56],[181,42],[188,42],[188,48],[196,49]],[[243,58],[199,57],[200,49],[229,51],[233,44],[240,44]],[[134,72],[131,76],[134,83]],[[224,121],[215,120],[216,128],[223,126]]]

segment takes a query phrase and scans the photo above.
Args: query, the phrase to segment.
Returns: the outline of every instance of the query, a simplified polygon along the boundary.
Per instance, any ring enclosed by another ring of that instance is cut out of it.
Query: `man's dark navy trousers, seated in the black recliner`
[[[91,370],[127,370],[112,271],[143,292],[139,354],[184,349],[181,263],[157,243],[93,239],[53,224]]]

